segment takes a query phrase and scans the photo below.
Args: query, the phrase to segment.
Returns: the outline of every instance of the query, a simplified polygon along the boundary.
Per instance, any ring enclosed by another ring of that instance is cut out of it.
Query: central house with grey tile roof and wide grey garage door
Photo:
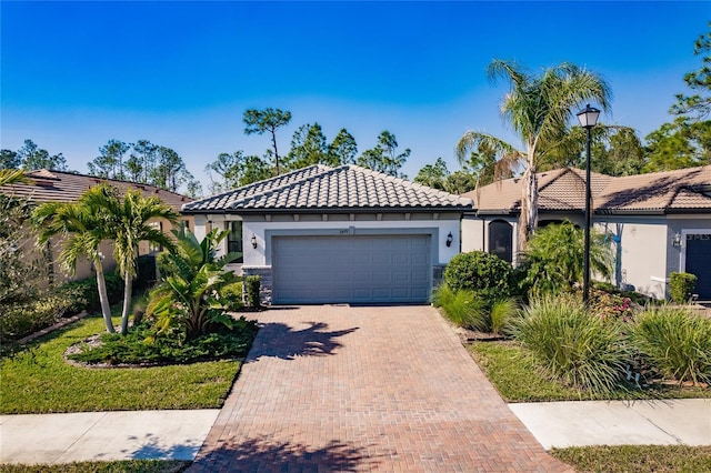
[[[422,303],[459,253],[472,201],[356,165],[311,165],[187,203],[198,239],[259,274],[276,304]]]

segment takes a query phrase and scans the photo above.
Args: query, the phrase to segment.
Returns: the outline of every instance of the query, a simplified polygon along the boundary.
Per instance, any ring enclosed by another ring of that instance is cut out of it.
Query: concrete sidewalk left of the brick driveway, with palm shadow
[[[220,411],[0,415],[0,463],[189,460]]]

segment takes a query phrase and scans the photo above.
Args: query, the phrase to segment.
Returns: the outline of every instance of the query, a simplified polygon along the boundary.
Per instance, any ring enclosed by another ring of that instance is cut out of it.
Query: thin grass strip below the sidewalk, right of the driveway
[[[580,473],[709,472],[711,446],[620,445],[553,449],[551,454]]]

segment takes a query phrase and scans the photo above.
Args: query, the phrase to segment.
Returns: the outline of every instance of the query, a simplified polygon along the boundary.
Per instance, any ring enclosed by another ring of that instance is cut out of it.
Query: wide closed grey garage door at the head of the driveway
[[[427,302],[430,235],[274,236],[277,304]]]

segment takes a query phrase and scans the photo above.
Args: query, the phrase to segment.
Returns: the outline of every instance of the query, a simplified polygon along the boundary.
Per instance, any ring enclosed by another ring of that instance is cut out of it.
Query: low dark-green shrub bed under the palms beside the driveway
[[[198,338],[181,340],[181,336],[158,335],[150,325],[141,324],[126,335],[104,333],[101,344],[86,344],[80,353],[69,358],[91,364],[189,363],[238,358],[247,354],[257,330],[256,321],[240,318],[232,329],[222,325]]]

